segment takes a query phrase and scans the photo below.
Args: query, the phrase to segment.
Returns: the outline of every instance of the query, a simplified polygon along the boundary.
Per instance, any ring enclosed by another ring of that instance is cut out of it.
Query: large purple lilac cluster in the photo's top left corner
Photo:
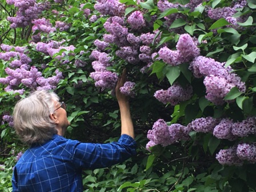
[[[7,0],[6,2],[18,8],[16,17],[7,18],[11,22],[11,28],[29,26],[34,19],[38,18],[38,15],[42,13],[43,9],[45,9],[43,4],[39,4],[35,0]]]

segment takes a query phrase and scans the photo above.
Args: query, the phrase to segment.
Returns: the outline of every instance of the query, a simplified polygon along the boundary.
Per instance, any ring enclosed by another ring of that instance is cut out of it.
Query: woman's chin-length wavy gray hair
[[[54,101],[59,101],[57,94],[41,90],[17,102],[13,111],[14,129],[22,142],[43,143],[57,134],[55,123],[50,119]]]

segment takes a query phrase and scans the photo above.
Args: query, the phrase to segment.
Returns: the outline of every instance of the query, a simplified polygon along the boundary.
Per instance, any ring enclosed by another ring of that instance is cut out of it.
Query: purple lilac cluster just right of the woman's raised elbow
[[[148,131],[147,138],[150,141],[147,143],[146,149],[150,151],[149,147],[171,145],[179,139],[187,138],[187,135],[184,133],[184,126],[179,124],[168,126],[163,119],[158,119],[154,123],[152,130]]]

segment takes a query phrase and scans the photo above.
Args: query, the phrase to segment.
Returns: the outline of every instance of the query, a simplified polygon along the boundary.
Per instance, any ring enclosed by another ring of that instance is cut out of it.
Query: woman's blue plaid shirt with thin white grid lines
[[[13,191],[83,191],[82,169],[109,167],[134,155],[129,135],[107,144],[81,143],[53,135],[34,145],[19,159],[13,172]]]

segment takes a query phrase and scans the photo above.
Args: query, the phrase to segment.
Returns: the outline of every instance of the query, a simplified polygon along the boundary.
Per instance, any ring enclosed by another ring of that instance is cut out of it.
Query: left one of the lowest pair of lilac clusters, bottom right
[[[230,149],[222,149],[216,154],[216,159],[221,165],[235,165],[242,166],[243,161],[237,156],[236,147],[231,147]]]

